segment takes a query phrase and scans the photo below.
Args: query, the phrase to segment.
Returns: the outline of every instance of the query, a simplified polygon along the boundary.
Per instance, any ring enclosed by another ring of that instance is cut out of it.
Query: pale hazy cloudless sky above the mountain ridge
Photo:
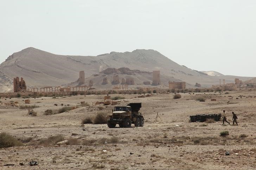
[[[0,0],[0,63],[27,47],[154,49],[196,70],[256,76],[255,0]]]

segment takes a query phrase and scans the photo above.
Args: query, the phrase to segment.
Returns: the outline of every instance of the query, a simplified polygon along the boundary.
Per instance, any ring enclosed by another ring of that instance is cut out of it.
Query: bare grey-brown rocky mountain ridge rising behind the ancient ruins
[[[27,87],[59,86],[75,82],[79,71],[84,70],[85,77],[99,74],[107,68],[129,68],[147,74],[160,70],[163,82],[171,79],[185,81],[193,86],[196,82],[202,87],[218,84],[219,79],[226,83],[234,82],[235,78],[242,81],[252,77],[208,76],[205,73],[180,66],[155,50],[136,49],[133,52],[111,52],[98,56],[69,56],[48,53],[33,47],[13,53],[0,64],[0,91],[12,90],[13,78],[23,77]],[[145,73],[144,73],[145,72]],[[101,86],[105,89],[104,86]]]

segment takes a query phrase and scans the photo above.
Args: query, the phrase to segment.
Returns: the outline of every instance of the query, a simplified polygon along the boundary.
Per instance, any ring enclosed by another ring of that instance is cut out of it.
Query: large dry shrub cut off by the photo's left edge
[[[23,143],[18,141],[15,137],[5,132],[0,133],[0,148],[19,147],[22,145]]]

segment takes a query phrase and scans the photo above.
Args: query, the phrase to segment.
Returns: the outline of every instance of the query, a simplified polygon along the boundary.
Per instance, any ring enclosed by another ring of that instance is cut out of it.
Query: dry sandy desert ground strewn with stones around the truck
[[[30,98],[31,104],[25,104],[24,98],[1,98],[0,132],[19,139],[23,146],[0,148],[0,169],[256,168],[256,89],[181,93],[179,99],[173,99],[171,93],[145,98],[137,98],[138,94],[111,94],[115,96],[125,97],[119,105],[142,103],[143,127],[81,124],[86,116],[111,113],[114,106],[93,104],[103,101],[104,95]],[[204,97],[205,102],[196,101],[198,97]],[[39,106],[34,108],[37,116],[29,115],[28,109],[4,104],[11,101],[18,101],[20,106]],[[44,115],[47,109],[58,110],[63,107],[61,104],[77,106],[81,101],[89,106]],[[231,125],[222,125],[221,121],[189,122],[190,115],[219,114],[223,110]],[[238,126],[232,125],[232,111],[238,116]],[[155,122],[157,113],[161,119],[158,117]],[[229,131],[229,135],[220,136],[222,131]],[[69,143],[58,146],[56,142],[49,142],[49,137],[59,134]],[[230,152],[229,156],[225,155],[226,151]],[[32,160],[39,164],[28,165]],[[6,164],[14,165],[4,166]]]

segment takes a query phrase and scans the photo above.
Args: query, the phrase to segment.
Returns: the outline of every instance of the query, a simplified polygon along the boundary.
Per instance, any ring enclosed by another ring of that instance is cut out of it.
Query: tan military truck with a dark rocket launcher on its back
[[[112,114],[108,117],[108,127],[114,128],[119,124],[120,128],[129,128],[132,124],[135,127],[143,127],[144,117],[139,112],[141,103],[129,103],[127,106],[115,106]]]

